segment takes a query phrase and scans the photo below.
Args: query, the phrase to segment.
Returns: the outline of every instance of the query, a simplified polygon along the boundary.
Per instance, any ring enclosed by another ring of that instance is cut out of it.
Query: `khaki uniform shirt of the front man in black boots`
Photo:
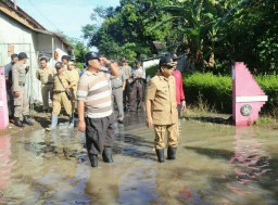
[[[151,101],[153,125],[173,125],[178,121],[176,82],[173,76],[154,76],[148,84],[146,94]]]

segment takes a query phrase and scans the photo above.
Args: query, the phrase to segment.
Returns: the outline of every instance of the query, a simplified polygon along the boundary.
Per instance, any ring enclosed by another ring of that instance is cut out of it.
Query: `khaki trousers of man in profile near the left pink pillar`
[[[25,86],[20,87],[20,97],[14,98],[14,117],[29,115],[29,102]]]

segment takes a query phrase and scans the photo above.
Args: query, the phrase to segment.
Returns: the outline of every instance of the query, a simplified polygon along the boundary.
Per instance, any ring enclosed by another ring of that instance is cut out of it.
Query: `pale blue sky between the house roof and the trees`
[[[17,0],[17,5],[48,30],[81,37],[81,27],[91,24],[96,7],[117,7],[119,0]]]

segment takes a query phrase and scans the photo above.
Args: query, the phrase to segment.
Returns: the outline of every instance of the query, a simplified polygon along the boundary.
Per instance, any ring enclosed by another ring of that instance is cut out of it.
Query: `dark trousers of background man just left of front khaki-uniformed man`
[[[136,80],[132,85],[131,92],[130,92],[130,107],[137,108],[140,107],[143,101],[143,81]],[[137,104],[137,100],[139,100]]]

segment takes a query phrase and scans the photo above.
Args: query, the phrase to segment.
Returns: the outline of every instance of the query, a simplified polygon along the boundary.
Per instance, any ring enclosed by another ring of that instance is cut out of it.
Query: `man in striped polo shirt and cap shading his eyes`
[[[118,66],[90,52],[85,55],[87,71],[80,77],[77,90],[78,130],[86,131],[86,145],[92,167],[98,166],[98,154],[112,163],[115,127],[111,95],[111,75],[118,76]],[[101,72],[101,61],[111,69]]]

